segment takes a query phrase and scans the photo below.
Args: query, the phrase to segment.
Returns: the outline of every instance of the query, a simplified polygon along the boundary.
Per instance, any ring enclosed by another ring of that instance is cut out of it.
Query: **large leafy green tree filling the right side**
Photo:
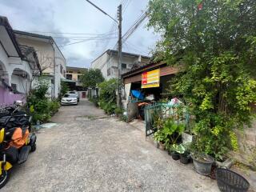
[[[150,0],[149,18],[162,34],[156,55],[180,66],[170,92],[190,104],[195,149],[221,159],[254,116],[256,1]]]

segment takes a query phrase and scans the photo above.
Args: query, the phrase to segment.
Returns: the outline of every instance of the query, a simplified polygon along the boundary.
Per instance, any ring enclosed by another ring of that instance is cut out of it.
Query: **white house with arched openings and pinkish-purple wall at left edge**
[[[33,79],[41,74],[33,47],[19,46],[6,17],[0,16],[0,107],[26,102]]]

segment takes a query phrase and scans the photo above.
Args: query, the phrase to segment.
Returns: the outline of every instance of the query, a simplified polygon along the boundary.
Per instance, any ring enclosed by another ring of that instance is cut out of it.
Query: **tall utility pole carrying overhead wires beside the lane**
[[[122,4],[118,6],[118,109],[122,108],[121,98],[121,70],[122,70]]]

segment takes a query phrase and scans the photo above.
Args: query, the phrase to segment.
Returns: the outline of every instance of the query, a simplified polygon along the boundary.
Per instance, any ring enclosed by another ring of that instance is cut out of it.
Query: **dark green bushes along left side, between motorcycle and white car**
[[[50,101],[46,98],[48,83],[39,81],[30,95],[26,98],[26,106],[32,115],[33,122],[49,122],[51,115],[58,111],[60,107],[58,100]]]

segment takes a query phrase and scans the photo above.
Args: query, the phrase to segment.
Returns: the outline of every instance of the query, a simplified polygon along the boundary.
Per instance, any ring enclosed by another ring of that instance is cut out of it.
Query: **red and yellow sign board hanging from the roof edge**
[[[142,88],[160,86],[160,69],[142,73]]]

